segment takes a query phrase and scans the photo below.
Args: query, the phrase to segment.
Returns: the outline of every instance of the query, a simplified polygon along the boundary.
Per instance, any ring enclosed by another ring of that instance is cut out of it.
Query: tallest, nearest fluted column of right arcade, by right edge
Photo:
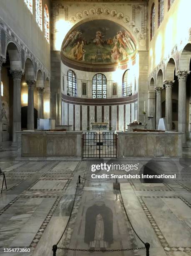
[[[183,132],[183,146],[186,146],[186,79],[190,71],[178,71],[178,131]]]

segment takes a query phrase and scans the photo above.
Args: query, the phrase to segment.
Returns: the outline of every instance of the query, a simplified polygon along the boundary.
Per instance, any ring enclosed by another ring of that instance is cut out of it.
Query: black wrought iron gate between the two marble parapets
[[[83,133],[83,158],[117,157],[117,134],[112,132]]]

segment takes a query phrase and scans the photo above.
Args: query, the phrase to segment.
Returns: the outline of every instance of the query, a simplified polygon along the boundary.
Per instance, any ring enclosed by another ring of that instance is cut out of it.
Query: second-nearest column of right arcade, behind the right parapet
[[[165,117],[166,117],[166,125],[167,130],[172,130],[172,87],[174,81],[166,80],[164,81],[164,85],[166,88],[166,102],[165,102]]]

